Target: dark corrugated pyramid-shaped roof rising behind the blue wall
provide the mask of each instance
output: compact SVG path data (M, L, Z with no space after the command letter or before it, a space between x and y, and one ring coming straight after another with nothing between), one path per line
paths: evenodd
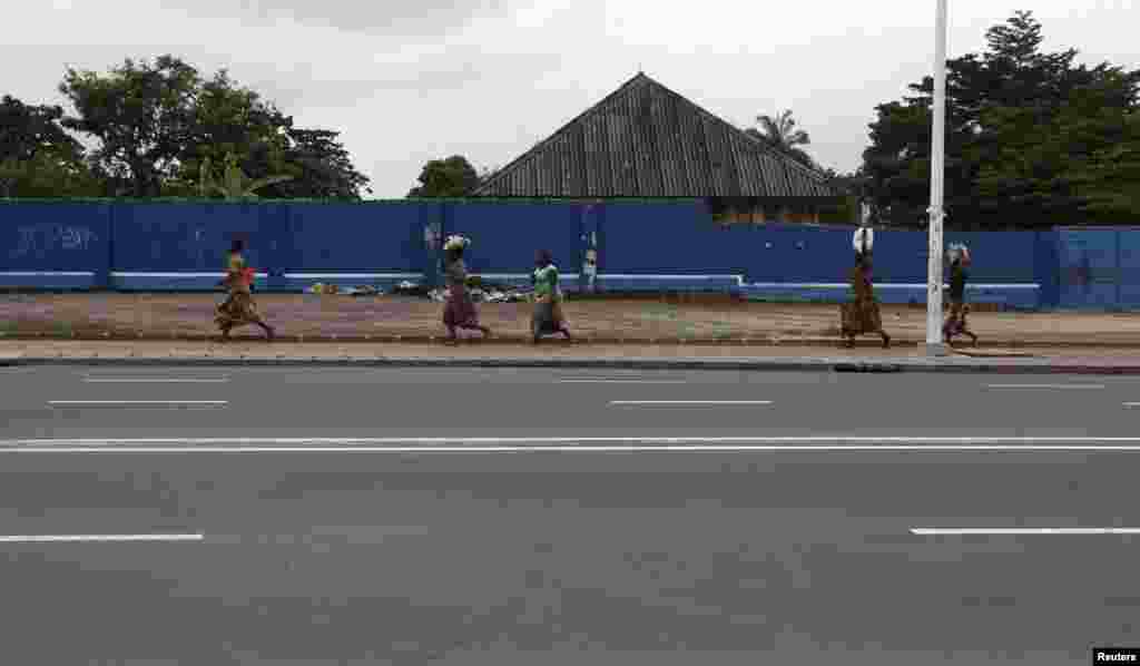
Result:
M637 74L475 196L834 197L815 171Z

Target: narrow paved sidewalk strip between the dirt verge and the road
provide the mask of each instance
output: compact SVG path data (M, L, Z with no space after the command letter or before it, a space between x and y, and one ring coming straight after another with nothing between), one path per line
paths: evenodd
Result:
M439 344L267 342L3 341L2 365L312 365L1140 374L1140 352L1106 349L970 351L926 357L919 349L628 344Z

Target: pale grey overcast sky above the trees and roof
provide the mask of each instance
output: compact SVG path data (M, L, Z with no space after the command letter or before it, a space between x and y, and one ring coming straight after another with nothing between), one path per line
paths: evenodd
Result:
M930 73L934 54L935 0L7 1L19 17L0 25L0 94L63 104L67 65L164 52L205 76L227 67L301 127L343 132L383 198L431 159L510 162L638 67L741 127L791 108L808 153L850 170L874 106ZM1135 0L950 5L950 57L1027 8L1047 49L1140 67Z

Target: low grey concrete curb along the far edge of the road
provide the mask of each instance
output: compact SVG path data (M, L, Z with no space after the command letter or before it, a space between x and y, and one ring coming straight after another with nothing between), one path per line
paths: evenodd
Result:
M453 367L453 368L603 368L701 369L756 372L847 373L991 373L1140 375L1140 363L1091 365L1017 359L1004 363L950 359L850 358L447 358L447 357L19 357L0 359L0 366L115 366L115 367Z

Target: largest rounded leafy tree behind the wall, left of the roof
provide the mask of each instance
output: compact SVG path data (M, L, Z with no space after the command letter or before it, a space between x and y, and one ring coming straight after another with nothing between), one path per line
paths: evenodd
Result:
M359 198L367 189L339 132L294 128L226 70L203 80L166 55L106 75L68 70L60 91L76 109L63 124L98 139L93 166L112 195L201 195L203 164L229 155L247 178L266 180L267 197Z

